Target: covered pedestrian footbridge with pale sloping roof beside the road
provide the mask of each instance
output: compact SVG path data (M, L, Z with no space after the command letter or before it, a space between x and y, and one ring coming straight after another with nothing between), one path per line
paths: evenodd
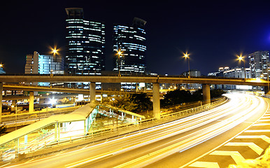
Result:
M55 142L85 136L92 131L97 114L117 120L117 123L120 120L121 123L136 124L145 119L144 116L113 106L90 103L72 113L50 116L1 136L1 158L10 160Z

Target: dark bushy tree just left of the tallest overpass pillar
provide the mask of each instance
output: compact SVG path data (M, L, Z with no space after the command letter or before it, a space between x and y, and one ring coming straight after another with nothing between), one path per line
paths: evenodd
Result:
M145 93L140 94L125 94L120 97L116 97L113 102L113 106L134 113L140 113L152 109L152 102L150 97L147 97Z

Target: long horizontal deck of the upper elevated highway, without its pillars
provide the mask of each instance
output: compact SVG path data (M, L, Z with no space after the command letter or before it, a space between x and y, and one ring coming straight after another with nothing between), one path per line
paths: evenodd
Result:
M267 86L267 80L256 78L187 78L185 76L64 76L64 75L1 75L2 83L34 82L100 82L100 83L200 83L215 85Z

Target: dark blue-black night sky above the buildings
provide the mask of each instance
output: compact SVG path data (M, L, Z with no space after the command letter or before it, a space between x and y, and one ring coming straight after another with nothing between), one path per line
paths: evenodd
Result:
M25 57L49 46L65 48L65 8L83 8L85 20L106 24L106 70L113 69L113 23L147 21L148 71L202 74L238 66L235 54L270 50L270 1L8 1L1 2L0 62L7 73L24 73ZM242 63L243 66L243 63ZM246 58L246 66L248 59Z

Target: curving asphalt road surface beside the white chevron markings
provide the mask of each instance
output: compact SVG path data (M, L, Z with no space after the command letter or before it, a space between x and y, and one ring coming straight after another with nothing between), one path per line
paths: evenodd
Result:
M183 167L255 123L267 102L250 94L226 94L215 109L122 137L88 144L8 167ZM16 164L16 163L15 163Z

